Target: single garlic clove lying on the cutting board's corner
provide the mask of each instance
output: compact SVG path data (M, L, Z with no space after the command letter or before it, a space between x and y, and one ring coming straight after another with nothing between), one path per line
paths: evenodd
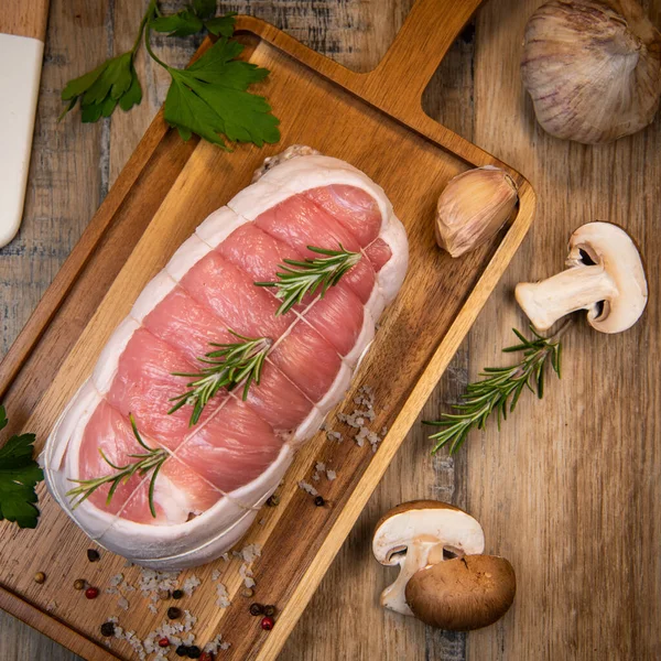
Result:
M436 207L436 242L454 258L488 241L511 216L519 195L509 174L486 165L447 184Z

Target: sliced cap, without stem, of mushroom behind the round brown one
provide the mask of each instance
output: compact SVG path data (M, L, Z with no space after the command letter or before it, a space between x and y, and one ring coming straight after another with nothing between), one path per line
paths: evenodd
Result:
M400 564L397 553L415 539L437 541L459 555L481 553L485 549L481 525L469 513L437 500L412 500L381 517L375 528L372 552L383 565ZM436 562L441 560L442 553Z

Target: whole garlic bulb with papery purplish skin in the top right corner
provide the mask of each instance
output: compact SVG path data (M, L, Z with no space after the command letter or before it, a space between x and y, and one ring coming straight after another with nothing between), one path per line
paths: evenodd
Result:
M661 95L661 34L635 0L551 0L521 62L542 128L586 144L647 127Z

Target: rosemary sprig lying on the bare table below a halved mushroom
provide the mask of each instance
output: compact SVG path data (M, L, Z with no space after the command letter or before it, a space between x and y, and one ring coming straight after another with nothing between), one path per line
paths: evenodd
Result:
M562 345L560 338L568 323L555 335L543 337L530 326L534 338L527 339L512 328L521 344L502 349L505 354L523 351L523 358L511 367L486 367L480 377L481 381L468 383L463 403L454 404L457 413L443 413L440 420L424 421L424 424L443 427L432 434L430 438L436 441L432 453L438 452L449 444L449 452L454 454L468 436L473 429L484 430L487 419L496 412L498 430L500 421L507 420L508 412L512 412L524 388L542 399L544 395L544 367L551 364L553 371L560 378L560 361Z

